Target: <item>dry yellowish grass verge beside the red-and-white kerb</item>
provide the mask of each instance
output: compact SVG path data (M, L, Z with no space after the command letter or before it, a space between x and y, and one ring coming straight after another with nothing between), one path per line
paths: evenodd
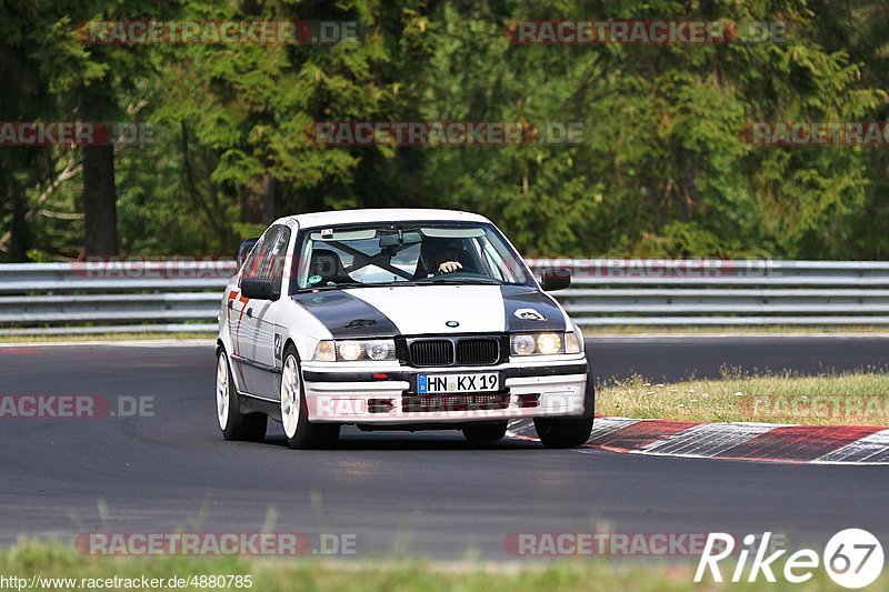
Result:
M889 373L742 374L660 383L635 377L596 393L606 415L686 421L889 425Z

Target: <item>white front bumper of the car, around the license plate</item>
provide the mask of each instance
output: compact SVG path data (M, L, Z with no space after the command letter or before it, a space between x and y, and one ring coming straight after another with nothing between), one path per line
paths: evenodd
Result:
M566 359L568 358L568 359ZM498 372L500 390L421 395L418 374ZM303 395L312 422L465 423L585 412L588 367L578 357L536 357L491 367L406 368L396 364L309 363Z

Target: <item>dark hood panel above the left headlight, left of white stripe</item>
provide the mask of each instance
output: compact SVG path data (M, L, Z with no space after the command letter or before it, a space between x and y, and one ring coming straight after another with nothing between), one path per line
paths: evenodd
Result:
M389 317L360 298L339 290L306 292L293 301L321 321L334 339L383 338L398 334Z

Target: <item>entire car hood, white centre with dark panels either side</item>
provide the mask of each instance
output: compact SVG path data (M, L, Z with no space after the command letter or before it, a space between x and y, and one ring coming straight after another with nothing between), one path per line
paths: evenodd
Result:
M339 339L563 331L561 308L523 285L399 285L306 292L292 297Z

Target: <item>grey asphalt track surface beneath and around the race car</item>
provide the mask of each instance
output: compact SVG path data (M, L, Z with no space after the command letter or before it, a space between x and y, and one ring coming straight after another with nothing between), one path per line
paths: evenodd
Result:
M880 338L588 340L597 374L885 367ZM515 560L510 533L889 536L889 470L545 450L458 432L343 431L334 451L222 441L211 347L0 349L2 394L153 397L139 419L0 420L0 542L91 531L356 533L359 556Z

